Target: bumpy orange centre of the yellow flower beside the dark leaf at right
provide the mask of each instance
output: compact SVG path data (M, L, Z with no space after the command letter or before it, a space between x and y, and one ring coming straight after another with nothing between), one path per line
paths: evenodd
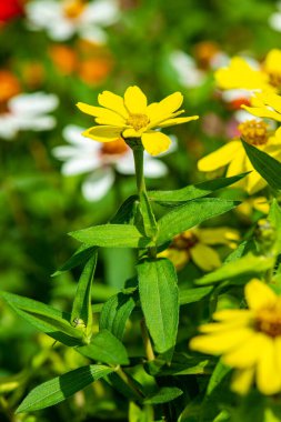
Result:
M268 124L259 120L248 120L238 127L245 142L252 145L262 145L268 142Z

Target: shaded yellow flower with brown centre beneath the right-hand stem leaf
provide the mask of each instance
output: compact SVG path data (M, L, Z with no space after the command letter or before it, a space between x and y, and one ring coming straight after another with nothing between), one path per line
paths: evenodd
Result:
M219 253L210 245L224 244L237 247L239 233L230 228L192 229L177 235L172 244L159 257L168 258L177 270L181 270L190 260L203 271L212 271L221 265Z

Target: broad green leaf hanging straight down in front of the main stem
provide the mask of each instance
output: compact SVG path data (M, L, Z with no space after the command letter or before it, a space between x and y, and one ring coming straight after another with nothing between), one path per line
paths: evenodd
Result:
M141 308L155 350L164 353L175 344L179 323L177 274L167 259L137 265Z

